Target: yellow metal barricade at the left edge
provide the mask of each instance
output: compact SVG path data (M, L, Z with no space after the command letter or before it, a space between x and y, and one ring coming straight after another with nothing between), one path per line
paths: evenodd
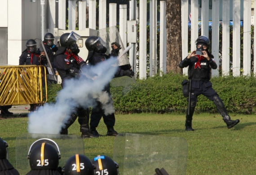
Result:
M44 66L0 66L0 106L47 102L45 77Z

